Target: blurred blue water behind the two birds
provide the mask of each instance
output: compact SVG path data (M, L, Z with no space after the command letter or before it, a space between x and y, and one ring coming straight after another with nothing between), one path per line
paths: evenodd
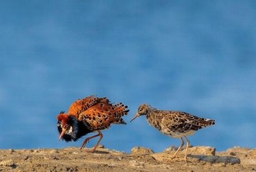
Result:
M255 1L0 1L0 148L61 148L56 116L77 98L129 105L102 144L163 151L179 139L129 120L138 105L217 120L190 137L256 145ZM89 147L95 144L89 143Z

